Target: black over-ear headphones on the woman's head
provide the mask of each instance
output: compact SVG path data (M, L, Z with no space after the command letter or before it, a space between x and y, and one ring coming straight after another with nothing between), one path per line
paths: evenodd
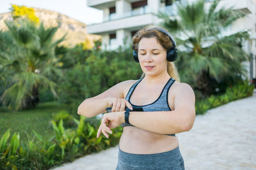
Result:
M169 36L170 40L172 41L173 46L172 46L172 48L167 50L167 52L166 52L166 59L168 61L170 61L170 62L175 61L177 59L177 57L178 57L178 50L176 48L176 42L175 42L173 36L169 32L165 31L164 29L160 29L160 28L150 28L148 30L161 31L161 32L164 32L164 34ZM132 48L132 50L133 50L133 58L134 58L135 62L139 62L138 53L135 52L134 48L135 47Z

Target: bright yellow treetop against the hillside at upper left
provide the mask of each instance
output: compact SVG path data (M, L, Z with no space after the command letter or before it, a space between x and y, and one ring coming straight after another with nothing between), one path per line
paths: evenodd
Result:
M28 18L35 24L39 24L40 19L35 15L34 8L28 8L27 6L18 6L16 4L12 4L12 17L16 18Z

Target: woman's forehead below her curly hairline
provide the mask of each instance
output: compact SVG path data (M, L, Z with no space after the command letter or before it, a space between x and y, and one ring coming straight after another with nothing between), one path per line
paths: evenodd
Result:
M147 49L163 49L163 46L157 41L155 37L152 38L141 38L138 44L138 50L147 50Z

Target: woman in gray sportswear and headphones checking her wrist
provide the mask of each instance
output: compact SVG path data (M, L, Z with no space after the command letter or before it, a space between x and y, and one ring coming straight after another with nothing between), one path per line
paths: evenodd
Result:
M172 62L177 57L175 40L165 29L145 28L134 35L132 46L142 78L123 81L84 100L77 113L94 117L112 107L102 117L97 138L101 132L108 138L111 129L124 127L116 169L184 169L175 133L193 127L195 94L179 82Z

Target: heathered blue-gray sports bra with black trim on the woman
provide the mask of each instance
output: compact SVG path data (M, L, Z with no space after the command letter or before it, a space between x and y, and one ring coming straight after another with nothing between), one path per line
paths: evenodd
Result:
M132 95L132 92L134 91L134 89L136 88L136 86L138 85L138 83L140 83L140 81L143 78L141 78L140 80L138 80L136 83L134 83L134 85L132 85L131 89L129 90L127 96L125 97L125 100L129 101L129 103L131 103L130 98ZM164 85L164 89L162 90L160 96L156 99L156 101L154 101L151 104L146 104L143 106L138 106L138 105L134 105L131 103L133 111L136 110L143 110L143 111L170 111L171 108L168 104L168 91L170 89L170 87L172 86L172 84L174 83L175 79L170 78L170 80L168 80L168 82L166 83L166 85ZM125 126L134 126L131 124L121 124L122 127ZM175 136L175 134L166 134L169 136Z

